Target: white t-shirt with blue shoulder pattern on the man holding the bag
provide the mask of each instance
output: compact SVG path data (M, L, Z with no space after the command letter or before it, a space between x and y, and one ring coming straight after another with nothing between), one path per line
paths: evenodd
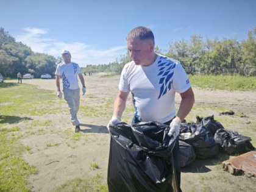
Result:
M119 90L132 92L134 116L140 121L165 123L176 115L175 93L190 88L180 62L157 54L150 66L127 63L121 73Z

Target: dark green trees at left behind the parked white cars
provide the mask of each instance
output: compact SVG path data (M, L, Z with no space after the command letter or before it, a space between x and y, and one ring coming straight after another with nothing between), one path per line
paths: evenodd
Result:
M32 73L35 77L43 73L54 74L57 61L51 55L33 52L0 28L0 73L4 77L16 77L18 72L22 75Z

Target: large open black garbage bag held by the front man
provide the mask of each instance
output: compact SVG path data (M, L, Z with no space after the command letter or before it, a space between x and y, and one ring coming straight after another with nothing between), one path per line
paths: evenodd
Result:
M160 123L126 123L110 126L107 183L110 192L174 191L176 174L169 126ZM177 188L177 185L176 185Z

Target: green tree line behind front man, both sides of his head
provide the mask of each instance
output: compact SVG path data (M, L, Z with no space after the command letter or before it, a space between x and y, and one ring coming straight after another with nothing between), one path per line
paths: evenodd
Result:
M211 40L192 35L190 41L182 39L169 43L165 52L156 46L155 52L179 60L188 74L256 76L256 27L249 30L247 39L242 41L236 38ZM87 65L83 70L121 73L127 62L130 62L129 52L108 65Z

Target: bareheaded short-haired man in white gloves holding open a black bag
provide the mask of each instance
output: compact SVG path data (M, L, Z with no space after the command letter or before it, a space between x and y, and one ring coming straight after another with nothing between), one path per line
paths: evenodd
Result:
M133 123L158 121L170 126L168 135L177 137L172 151L177 181L180 190L179 128L194 104L194 93L180 62L154 51L154 34L147 27L136 27L126 37L127 49L132 62L127 63L121 73L119 92L113 107L113 116L108 123L120 123L126 108L129 92L135 107ZM182 101L175 110L175 93Z

